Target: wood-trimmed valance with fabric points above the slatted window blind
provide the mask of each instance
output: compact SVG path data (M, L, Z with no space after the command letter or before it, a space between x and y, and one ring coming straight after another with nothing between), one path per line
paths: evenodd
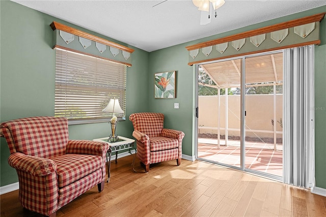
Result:
M53 21L50 26L53 30L53 49L62 48L131 66L130 55L134 51L132 48L55 21Z

